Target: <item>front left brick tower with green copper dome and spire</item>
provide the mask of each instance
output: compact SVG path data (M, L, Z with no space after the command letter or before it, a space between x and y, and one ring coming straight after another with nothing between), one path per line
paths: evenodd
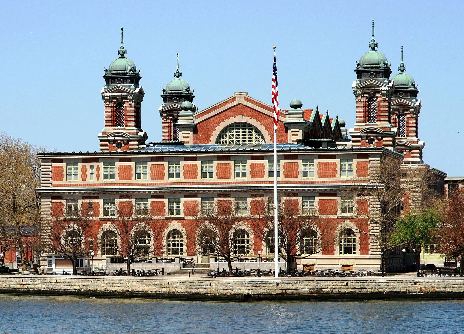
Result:
M145 147L148 135L141 126L141 104L144 92L139 82L140 70L126 58L123 29L119 57L104 68L105 85L101 90L105 103L105 124L98 134L101 151L127 151Z

